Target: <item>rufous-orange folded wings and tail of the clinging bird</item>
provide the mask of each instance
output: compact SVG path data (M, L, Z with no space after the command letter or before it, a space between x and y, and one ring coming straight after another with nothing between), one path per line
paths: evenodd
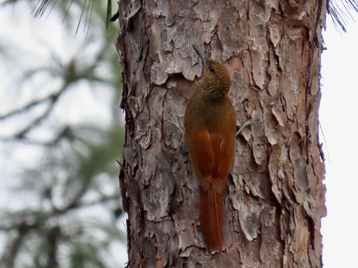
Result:
M235 129L188 133L190 160L199 180L200 226L209 252L222 250L222 192L235 154Z

